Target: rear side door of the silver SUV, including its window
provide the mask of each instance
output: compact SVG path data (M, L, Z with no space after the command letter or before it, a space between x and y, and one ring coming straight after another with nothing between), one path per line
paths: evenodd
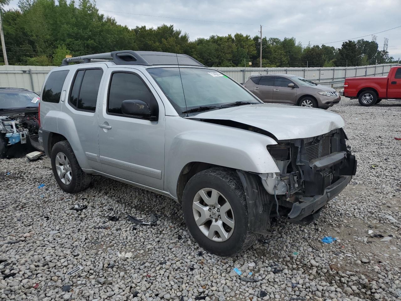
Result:
M106 70L105 64L91 64L91 67L86 68L77 66L67 91L67 101L62 108L62 111L74 120L79 142L90 169L97 171L101 170L98 159L97 102L99 87ZM77 147L75 143L74 146Z

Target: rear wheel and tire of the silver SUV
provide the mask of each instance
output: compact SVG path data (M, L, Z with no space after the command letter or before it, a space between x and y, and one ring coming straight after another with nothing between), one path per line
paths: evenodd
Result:
M51 167L57 184L68 193L85 190L91 183L92 175L83 172L67 140L53 146Z

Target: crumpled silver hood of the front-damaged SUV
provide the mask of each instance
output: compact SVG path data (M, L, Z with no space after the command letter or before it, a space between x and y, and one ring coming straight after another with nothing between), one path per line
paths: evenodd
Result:
M202 112L189 119L231 120L261 128L278 140L314 137L345 125L336 113L278 104L254 104Z

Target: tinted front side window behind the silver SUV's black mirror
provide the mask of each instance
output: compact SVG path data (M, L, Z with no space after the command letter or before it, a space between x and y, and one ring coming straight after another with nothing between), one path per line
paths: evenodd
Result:
M107 112L122 114L121 104L124 100L142 100L154 112L157 102L145 83L133 73L113 73L111 77Z

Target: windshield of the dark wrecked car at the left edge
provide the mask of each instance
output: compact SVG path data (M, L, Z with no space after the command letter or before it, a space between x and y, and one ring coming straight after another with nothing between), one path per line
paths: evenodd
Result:
M0 110L37 107L39 96L33 92L0 92Z

